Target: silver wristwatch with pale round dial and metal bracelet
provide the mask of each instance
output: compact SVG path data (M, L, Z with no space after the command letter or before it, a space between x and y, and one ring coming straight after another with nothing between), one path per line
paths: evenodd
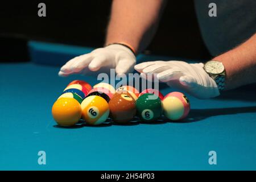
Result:
M220 61L210 60L204 64L204 70L216 82L218 90L224 90L226 77L224 65Z

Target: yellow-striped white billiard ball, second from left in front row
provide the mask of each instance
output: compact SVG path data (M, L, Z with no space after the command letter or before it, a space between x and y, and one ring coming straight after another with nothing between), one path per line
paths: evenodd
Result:
M89 125L100 125L109 117L109 104L100 96L89 96L81 103L82 118Z

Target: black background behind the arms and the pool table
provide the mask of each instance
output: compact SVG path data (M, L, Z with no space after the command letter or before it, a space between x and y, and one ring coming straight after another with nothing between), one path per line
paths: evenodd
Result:
M46 3L47 17L38 16L40 2ZM1 3L1 56L5 60L28 59L27 40L101 47L104 44L111 2L94 0ZM209 59L200 35L193 1L168 1L159 29L147 52L187 59Z

